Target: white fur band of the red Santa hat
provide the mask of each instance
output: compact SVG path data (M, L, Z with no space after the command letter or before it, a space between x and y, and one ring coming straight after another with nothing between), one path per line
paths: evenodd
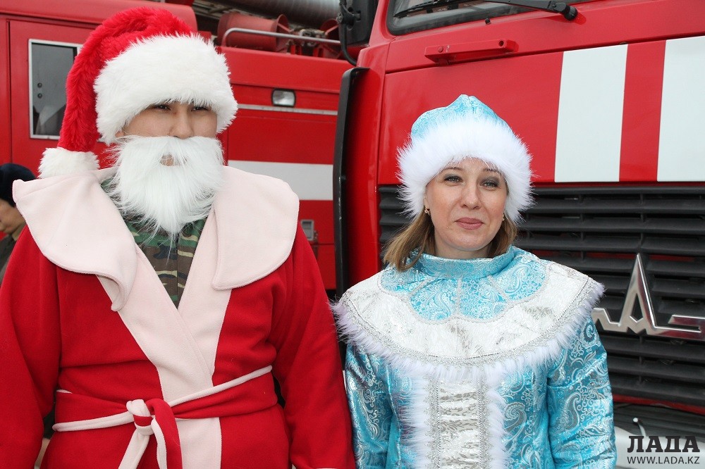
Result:
M94 91L98 132L106 144L153 104L181 101L210 106L218 115L218 132L238 111L225 57L198 35L135 42L106 63Z

